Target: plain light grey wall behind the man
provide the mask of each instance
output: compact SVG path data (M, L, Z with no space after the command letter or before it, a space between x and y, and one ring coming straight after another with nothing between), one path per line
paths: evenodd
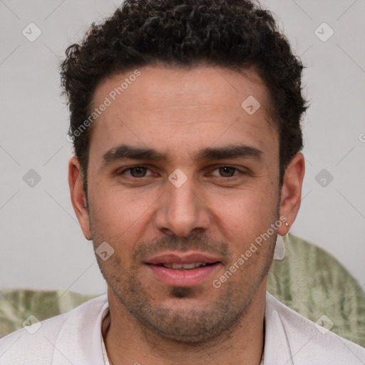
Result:
M57 68L66 47L118 4L0 0L0 290L106 289L69 198L71 143ZM331 252L364 286L365 2L263 4L307 66L312 104L304 120L302 208L292 233Z

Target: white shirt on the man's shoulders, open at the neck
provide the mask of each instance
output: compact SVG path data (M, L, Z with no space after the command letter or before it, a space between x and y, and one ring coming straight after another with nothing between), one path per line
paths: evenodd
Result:
M0 365L104 365L106 294L0 339ZM302 317L267 293L264 365L364 365L365 349ZM108 356L106 357L108 359Z

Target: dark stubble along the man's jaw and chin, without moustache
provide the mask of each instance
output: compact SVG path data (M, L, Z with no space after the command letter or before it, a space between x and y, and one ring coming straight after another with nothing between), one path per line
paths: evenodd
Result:
M202 294L204 305L195 300L195 304L184 309L164 307L158 299L153 299L138 280L138 271L133 265L126 272L120 260L113 259L113 256L108 264L99 257L97 259L108 287L143 331L193 345L207 343L219 336L229 336L242 323L272 262L274 242L267 242L267 245L269 247L262 247L264 259L259 270L252 272L257 264L254 260L245 262L234 274L237 277L230 277L222 287L214 289L219 294L209 306L206 296ZM199 290L197 287L170 287L168 297L175 301L187 301L196 298L200 294Z

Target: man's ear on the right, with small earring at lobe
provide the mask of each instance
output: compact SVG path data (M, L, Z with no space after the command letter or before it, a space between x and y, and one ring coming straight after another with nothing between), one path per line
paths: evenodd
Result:
M304 156L302 153L294 155L287 170L285 170L284 180L280 197L280 217L287 217L287 225L279 227L277 232L284 236L289 232L290 226L297 217L300 202L302 200L302 183L304 178Z

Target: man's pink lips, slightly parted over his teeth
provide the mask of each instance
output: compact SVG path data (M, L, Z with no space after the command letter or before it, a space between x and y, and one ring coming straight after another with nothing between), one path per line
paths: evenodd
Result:
M207 266L195 269L179 270L168 269L161 264L190 264L203 262ZM165 253L148 259L145 265L151 270L153 277L159 282L171 287L194 287L205 282L222 263L216 257L202 254L201 252Z

